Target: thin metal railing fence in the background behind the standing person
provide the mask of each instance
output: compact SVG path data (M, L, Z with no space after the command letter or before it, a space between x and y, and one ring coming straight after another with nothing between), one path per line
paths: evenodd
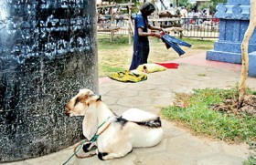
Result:
M161 22L159 25L171 27L174 22ZM195 17L179 19L175 23L182 27L182 36L184 37L197 37L197 38L218 38L219 37L219 19L208 17ZM120 27L118 31L114 32L114 36L128 36L128 21L115 22L115 26ZM180 32L170 32L172 36L180 36ZM98 32L98 34L112 35L111 32Z

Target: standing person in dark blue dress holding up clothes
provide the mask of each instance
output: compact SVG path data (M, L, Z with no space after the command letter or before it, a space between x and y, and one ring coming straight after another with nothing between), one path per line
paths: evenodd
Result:
M129 70L136 69L139 65L147 63L149 55L148 36L161 37L160 33L148 32L148 28L163 31L161 27L151 26L148 23L147 16L155 11L155 5L146 2L141 6L140 11L141 13L134 18L133 59Z

